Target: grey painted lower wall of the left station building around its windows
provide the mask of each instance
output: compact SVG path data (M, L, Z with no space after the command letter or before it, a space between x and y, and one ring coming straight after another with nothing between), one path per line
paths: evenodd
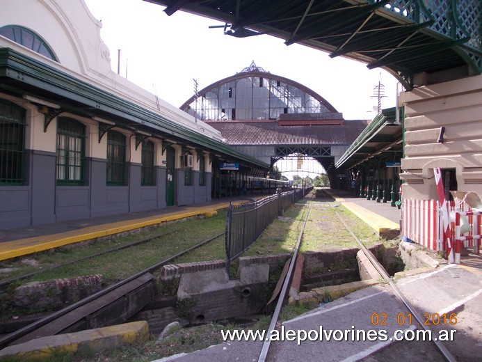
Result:
M56 154L26 152L26 184L0 187L0 228L54 223L88 217L166 208L166 167L156 168L153 186L140 185L140 164L127 167L127 186L106 185L106 160L86 158L86 184L56 186ZM176 205L211 201L211 173L199 186L193 171L193 186L184 186L184 171L176 170Z

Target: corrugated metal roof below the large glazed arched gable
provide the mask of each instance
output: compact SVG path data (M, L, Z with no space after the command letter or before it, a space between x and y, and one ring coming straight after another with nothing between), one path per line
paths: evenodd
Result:
M369 120L344 120L342 125L280 126L278 121L207 122L229 145L349 145Z

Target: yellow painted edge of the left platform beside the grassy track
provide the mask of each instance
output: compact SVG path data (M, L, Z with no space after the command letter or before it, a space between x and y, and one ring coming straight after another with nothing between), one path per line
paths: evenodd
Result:
M206 207L193 207L193 211L182 213L165 214L162 217L145 217L143 219L134 219L127 221L118 221L115 223L107 223L98 226L90 226L79 230L67 231L52 235L42 235L40 237L29 237L26 239L17 239L10 242L1 243L0 260L17 258L22 255L38 253L48 249L54 249L59 246L65 246L76 242L83 242L97 237L106 237L126 231L152 226L157 223L166 221L175 221L195 217L207 212L223 210L229 207L229 203L221 203L218 205L209 205Z

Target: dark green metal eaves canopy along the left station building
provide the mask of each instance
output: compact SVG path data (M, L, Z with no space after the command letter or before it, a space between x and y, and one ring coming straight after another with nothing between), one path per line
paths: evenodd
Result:
M60 108L45 113L45 129L58 114L68 111L81 116L97 116L115 121L116 127L134 127L164 140L205 150L227 161L241 161L252 168L268 170L269 165L175 123L160 113L122 99L86 81L58 70L10 48L0 48L0 91L22 97L30 95Z

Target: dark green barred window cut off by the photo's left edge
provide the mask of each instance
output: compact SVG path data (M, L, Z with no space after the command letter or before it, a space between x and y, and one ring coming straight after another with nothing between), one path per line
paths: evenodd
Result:
M0 100L0 184L24 184L25 110Z

